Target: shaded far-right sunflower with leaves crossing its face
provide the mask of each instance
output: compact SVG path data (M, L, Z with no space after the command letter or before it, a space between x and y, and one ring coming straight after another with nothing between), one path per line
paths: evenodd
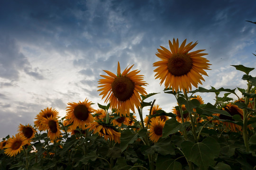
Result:
M229 103L225 107L223 107L222 110L226 110L227 112L229 112L229 114L231 116L240 115L241 118L243 119L243 110L238 108L237 105ZM214 114L214 115L219 116L219 119L235 121L234 119L232 119L232 117L229 117L229 116L226 116L226 115L222 115L222 114ZM220 124L219 120L213 120L213 122L217 122L218 124ZM232 122L221 122L221 123L223 125L225 125L227 128L229 128L230 131L232 131L232 132L238 132L238 131L241 132L242 131L242 127L240 125L235 124L235 123L232 123Z

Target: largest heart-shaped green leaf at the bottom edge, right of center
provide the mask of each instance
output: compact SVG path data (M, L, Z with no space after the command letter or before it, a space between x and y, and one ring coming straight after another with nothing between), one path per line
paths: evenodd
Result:
M207 137L199 143L184 141L181 147L188 161L195 163L201 170L208 170L220 152L219 143L213 137Z

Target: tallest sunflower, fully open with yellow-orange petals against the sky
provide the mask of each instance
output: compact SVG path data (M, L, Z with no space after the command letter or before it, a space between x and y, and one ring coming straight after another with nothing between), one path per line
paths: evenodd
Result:
M162 49L157 49L158 53L155 55L161 60L153 64L155 68L155 79L161 80L160 85L165 81L165 88L172 87L173 91L192 89L192 85L197 88L201 80L204 81L202 75L208 76L204 69L209 69L209 60L201 57L207 55L200 53L204 50L191 51L198 42L186 44L184 40L179 47L179 40L169 40L170 50L160 46ZM192 85L191 85L192 84Z

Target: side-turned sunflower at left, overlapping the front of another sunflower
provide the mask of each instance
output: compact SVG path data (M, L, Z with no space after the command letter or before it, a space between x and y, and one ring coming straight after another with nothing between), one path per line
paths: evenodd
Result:
M61 136L60 125L57 119L53 118L52 116L50 118L44 118L43 124L48 130L48 137L50 140L55 141Z

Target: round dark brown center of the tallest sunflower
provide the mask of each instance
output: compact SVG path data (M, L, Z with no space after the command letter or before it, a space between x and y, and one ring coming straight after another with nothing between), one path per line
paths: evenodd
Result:
M174 76L186 75L192 66L192 59L186 54L174 54L167 63L169 72Z

